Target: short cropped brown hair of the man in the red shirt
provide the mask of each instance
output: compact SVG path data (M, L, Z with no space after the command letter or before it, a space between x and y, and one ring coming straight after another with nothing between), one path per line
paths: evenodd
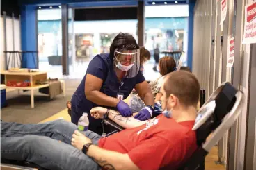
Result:
M165 78L166 96L174 94L184 106L197 106L200 94L198 79L188 71L175 71Z

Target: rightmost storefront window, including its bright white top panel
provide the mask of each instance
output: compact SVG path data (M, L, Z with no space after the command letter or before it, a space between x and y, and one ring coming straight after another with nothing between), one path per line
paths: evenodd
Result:
M184 51L186 66L188 17L188 5L145 6L145 48L154 55L158 46L160 58L163 51Z

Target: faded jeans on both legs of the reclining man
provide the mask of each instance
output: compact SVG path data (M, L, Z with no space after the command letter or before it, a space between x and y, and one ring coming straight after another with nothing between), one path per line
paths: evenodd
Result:
M90 157L71 145L77 126L64 121L45 124L17 124L1 121L1 158L33 162L46 169L101 169ZM101 138L83 132L93 144Z

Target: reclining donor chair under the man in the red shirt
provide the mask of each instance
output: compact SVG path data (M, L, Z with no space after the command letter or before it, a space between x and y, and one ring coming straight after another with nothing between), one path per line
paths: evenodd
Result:
M198 150L185 164L179 167L179 170L202 169L200 164L204 162L205 156L239 117L244 104L243 98L243 92L234 88L230 83L221 84L211 94L198 111L198 117L193 126L193 130L196 132ZM113 126L118 132L124 130L110 119L105 119L104 123ZM8 160L1 159L2 169L7 167L10 169L43 169L29 162L6 161Z

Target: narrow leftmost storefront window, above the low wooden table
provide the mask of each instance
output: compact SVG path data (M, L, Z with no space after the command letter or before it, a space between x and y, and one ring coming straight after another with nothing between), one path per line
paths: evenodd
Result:
M38 9L38 58L49 77L62 75L61 8Z

